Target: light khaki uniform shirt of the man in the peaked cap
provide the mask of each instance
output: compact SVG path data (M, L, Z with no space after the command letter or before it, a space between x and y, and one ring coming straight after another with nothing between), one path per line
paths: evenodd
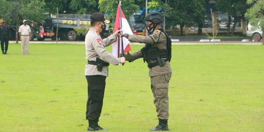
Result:
M117 41L117 38L114 34L102 40L100 34L94 29L90 28L85 37L86 60L96 61L96 57L98 57L104 62L108 62L113 65L118 65L120 63L120 59L106 51L105 48L106 46L111 45L115 41ZM85 75L108 76L108 66L104 66L102 71L98 71L97 66L87 64L85 67Z

